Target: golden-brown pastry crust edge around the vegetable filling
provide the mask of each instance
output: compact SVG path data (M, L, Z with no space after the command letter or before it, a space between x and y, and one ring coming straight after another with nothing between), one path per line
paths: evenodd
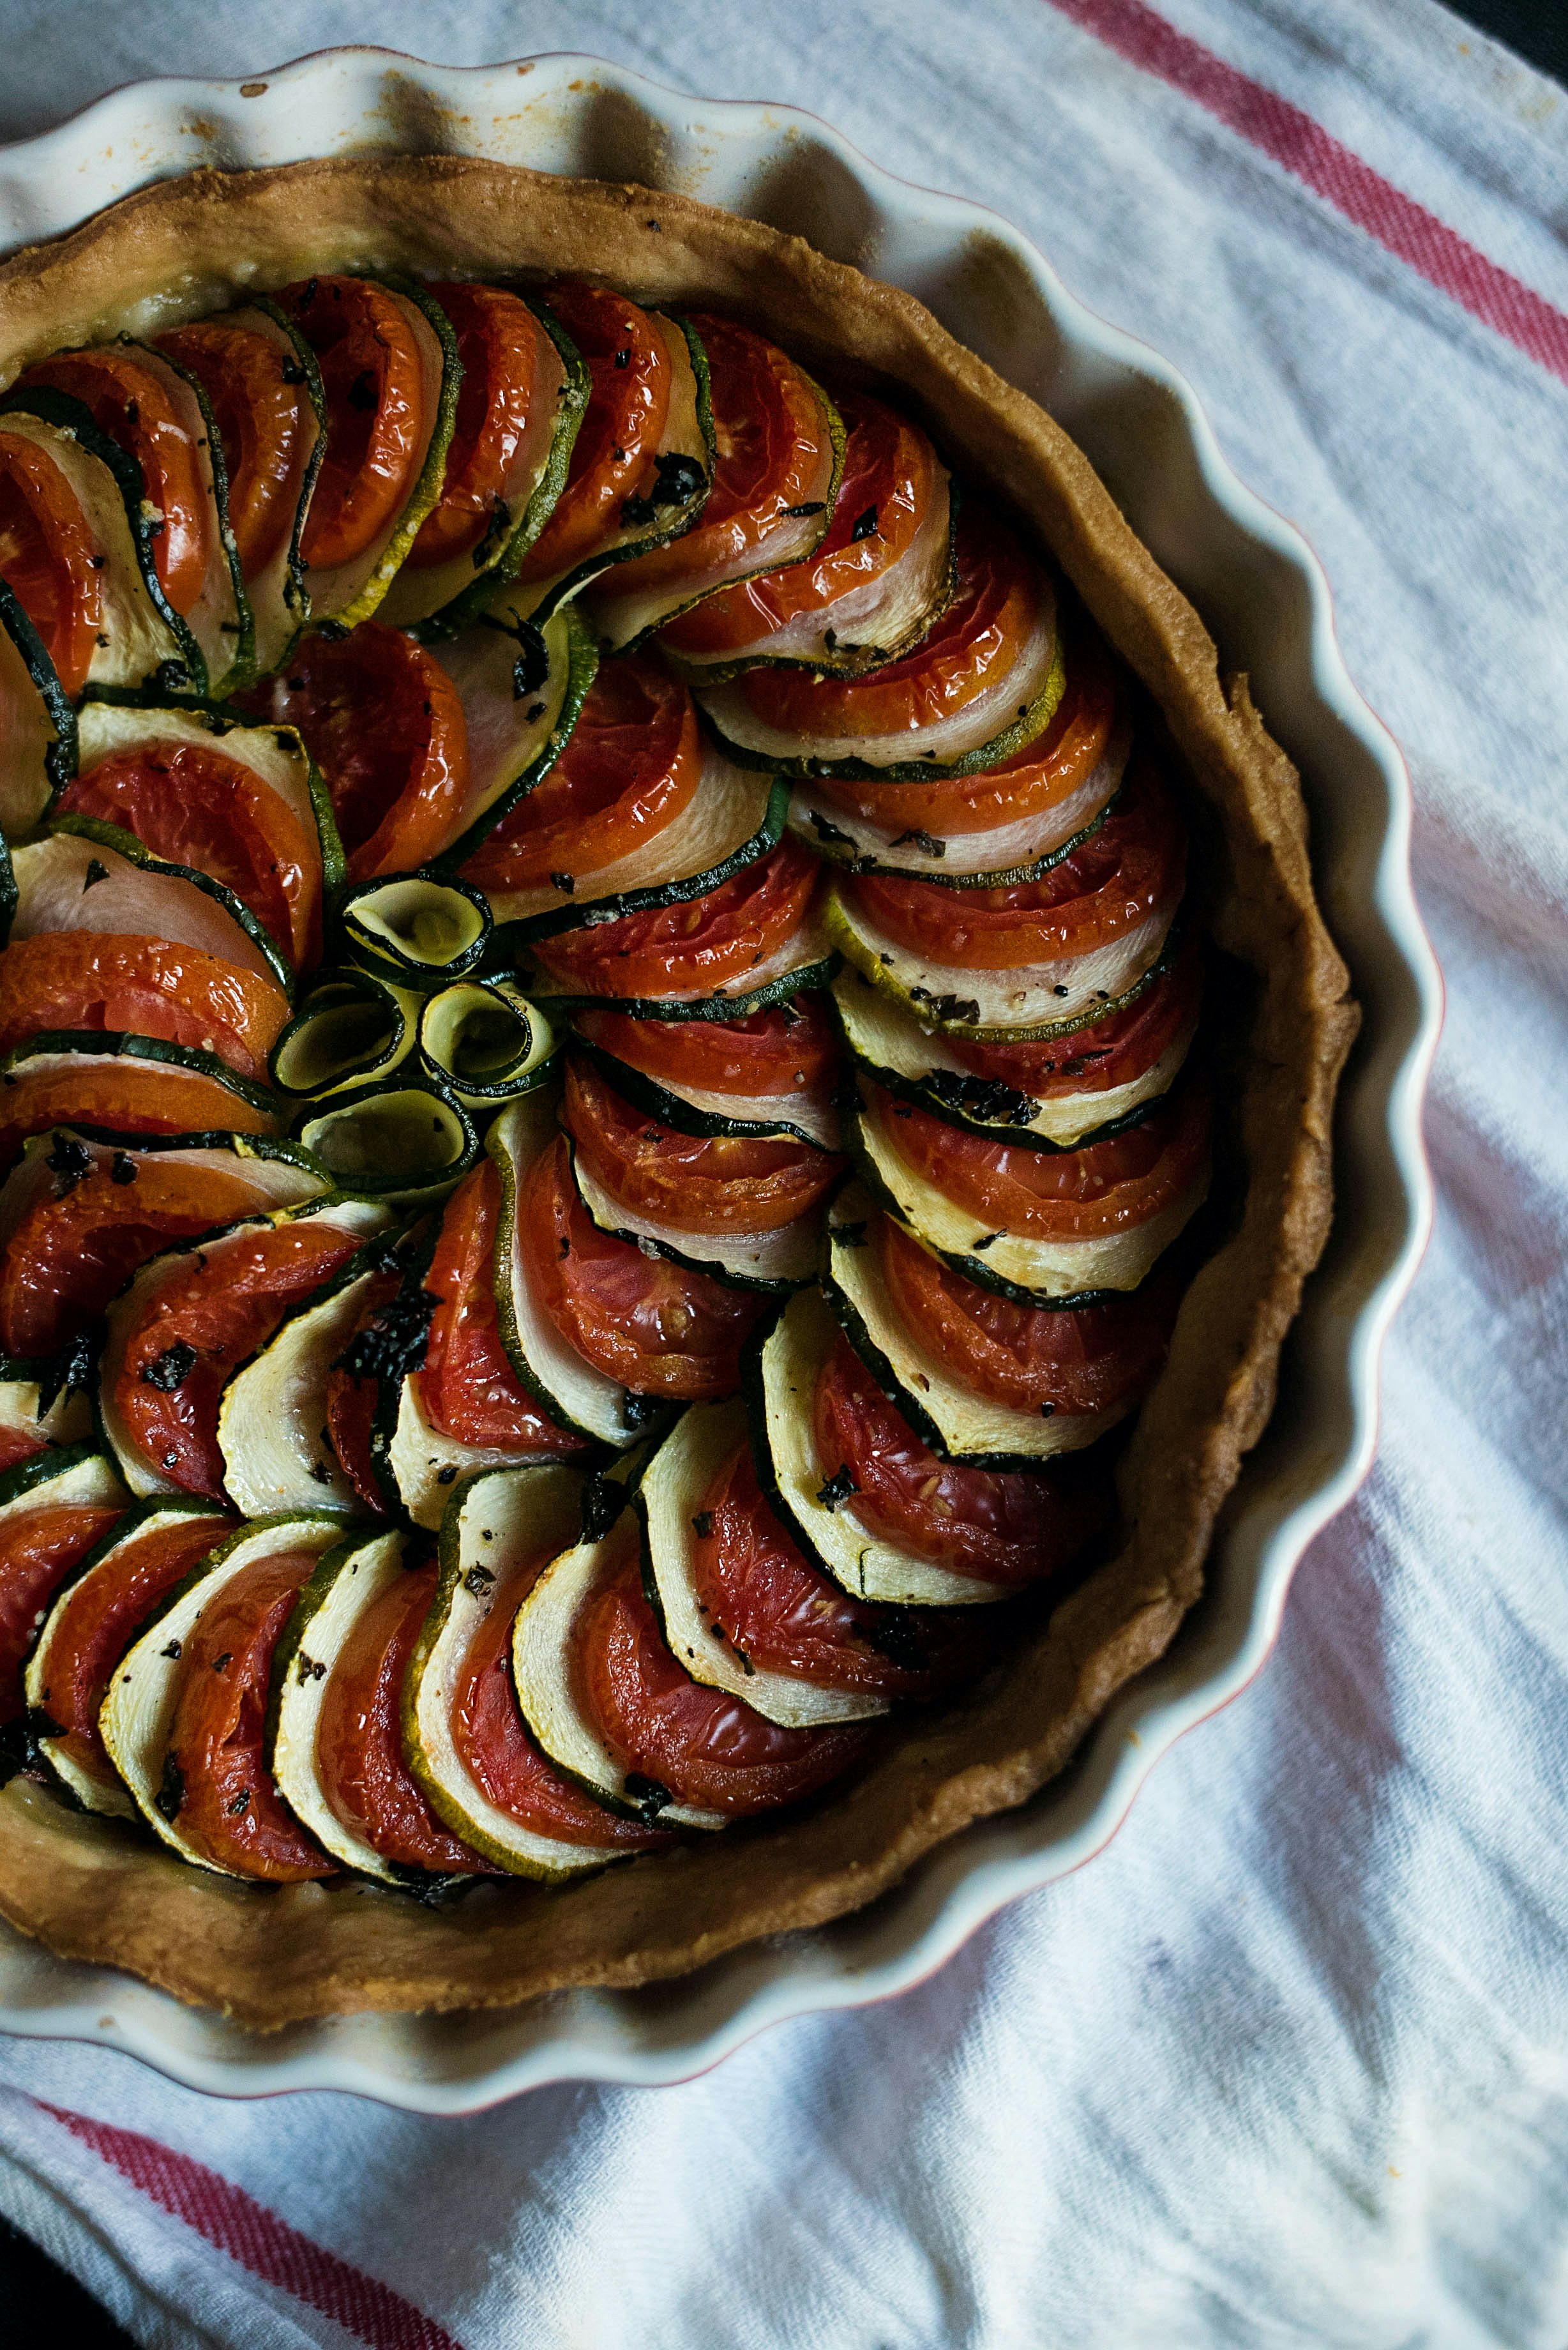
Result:
M1060 1770L1201 1589L1215 1513L1267 1422L1279 1347L1328 1234L1333 1095L1356 1032L1312 895L1300 785L1246 679L1220 682L1201 620L1034 402L912 296L799 237L646 188L456 157L200 172L0 266L0 381L61 343L193 315L235 284L350 266L595 275L644 301L738 310L802 357L830 352L907 385L947 446L1032 522L1159 703L1218 818L1215 938L1258 973L1260 1003L1241 1100L1246 1206L1192 1283L1128 1448L1124 1549L999 1690L907 1725L820 1810L564 1892L484 1885L428 1911L369 1887L233 1885L12 1781L0 1911L61 1958L127 1967L254 2026L675 1976L860 1906Z

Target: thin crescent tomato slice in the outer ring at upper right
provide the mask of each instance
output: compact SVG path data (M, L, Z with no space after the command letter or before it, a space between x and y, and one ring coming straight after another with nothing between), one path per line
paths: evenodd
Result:
M1117 677L1095 630L1079 630L1067 644L1067 686L1051 724L1011 759L978 776L940 783L844 783L813 785L849 815L863 815L889 832L919 830L938 839L992 832L1070 799L1105 757L1117 719Z

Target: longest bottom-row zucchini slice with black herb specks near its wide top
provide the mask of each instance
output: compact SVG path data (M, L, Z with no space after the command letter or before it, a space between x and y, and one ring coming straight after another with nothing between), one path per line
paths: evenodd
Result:
M442 1579L404 1685L404 1753L433 1810L515 1878L569 1878L630 1859L609 1838L578 1845L527 1828L491 1802L451 1734L477 1633L496 1610L517 1614L541 1563L576 1542L581 1523L583 1478L574 1469L487 1469L456 1485L442 1518Z

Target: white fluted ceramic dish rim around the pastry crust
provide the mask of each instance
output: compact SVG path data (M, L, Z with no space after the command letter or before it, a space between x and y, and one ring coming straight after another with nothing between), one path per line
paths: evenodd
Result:
M1265 717L1302 766L1328 916L1366 1013L1335 1135L1345 1206L1291 1340L1281 1410L1215 1542L1213 1598L1034 1802L976 1824L882 1901L816 1934L778 1936L675 1983L562 1993L477 2016L346 2016L263 2035L115 1969L54 1960L0 1927L5 2033L115 2047L214 2094L346 2089L465 2113L552 2080L682 2080L771 2023L910 1988L1004 1904L1091 1859L1159 1755L1246 1687L1276 1638L1295 1563L1373 1459L1382 1340L1432 1222L1420 1102L1441 980L1410 891L1408 776L1345 670L1316 555L1237 479L1168 362L1095 317L994 212L896 179L816 118L686 99L590 56L444 68L329 49L244 85L139 82L2 148L0 251L59 235L197 162L247 167L367 146L642 179L802 228L827 249L823 223L853 195L856 244L839 240L839 258L910 284L976 348L987 336L966 334L952 310L964 308L966 263L1001 261L1009 322L1023 320L1034 345L1023 369L985 355L1079 437L1227 658L1248 667ZM936 280L947 298L933 298ZM1215 616L1232 578L1241 602Z

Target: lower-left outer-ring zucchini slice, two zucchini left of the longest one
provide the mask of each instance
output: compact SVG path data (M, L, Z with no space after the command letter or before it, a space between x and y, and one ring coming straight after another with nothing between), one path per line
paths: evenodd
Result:
M235 1875L235 1871L219 1868L216 1861L209 1861L205 1852L197 1852L181 1835L174 1802L165 1810L165 1753L183 1680L181 1652L202 1610L247 1567L259 1565L263 1558L280 1558L287 1551L310 1551L320 1558L322 1551L329 1551L341 1539L343 1520L324 1511L301 1511L287 1518L263 1518L256 1525L242 1525L237 1535L219 1542L202 1565L183 1584L176 1584L162 1607L148 1617L108 1685L99 1730L136 1812L165 1845L179 1852L181 1861L209 1868L219 1878Z

